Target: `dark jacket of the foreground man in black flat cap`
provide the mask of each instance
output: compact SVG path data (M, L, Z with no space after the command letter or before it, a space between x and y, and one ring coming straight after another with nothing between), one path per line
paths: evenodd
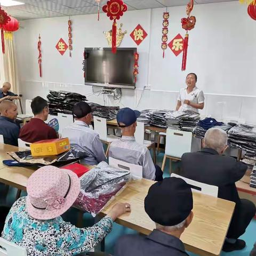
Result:
M154 229L149 236L126 235L118 239L115 256L188 256L179 238Z

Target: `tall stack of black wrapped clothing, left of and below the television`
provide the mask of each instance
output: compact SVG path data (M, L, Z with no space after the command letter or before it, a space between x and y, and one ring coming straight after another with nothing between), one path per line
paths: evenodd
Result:
M58 113L72 114L73 106L77 102L86 101L84 95L67 91L50 91L47 99L51 115L57 115Z

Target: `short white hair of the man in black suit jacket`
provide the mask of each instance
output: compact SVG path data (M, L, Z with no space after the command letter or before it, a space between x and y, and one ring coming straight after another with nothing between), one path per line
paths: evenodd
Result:
M212 148L219 154L225 149L228 143L227 133L220 128L211 128L204 135L204 147Z

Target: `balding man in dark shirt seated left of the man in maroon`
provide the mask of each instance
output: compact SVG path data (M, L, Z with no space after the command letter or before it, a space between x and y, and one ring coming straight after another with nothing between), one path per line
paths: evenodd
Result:
M4 137L4 143L18 146L20 126L15 123L17 106L10 100L4 100L0 103L0 113L0 134Z

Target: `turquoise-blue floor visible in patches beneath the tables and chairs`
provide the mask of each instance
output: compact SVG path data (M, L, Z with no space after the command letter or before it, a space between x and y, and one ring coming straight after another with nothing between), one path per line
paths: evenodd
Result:
M160 153L157 155L157 163L159 166L162 165L163 160L163 153ZM175 170L179 167L179 163L173 163L172 169ZM164 177L170 177L169 174L169 162L166 162L165 170L164 170ZM0 203L4 202L3 198L3 191L4 186L0 183ZM12 205L15 201L15 193L16 189L10 188L9 194L7 195L7 204ZM22 193L22 195L25 195ZM63 218L66 221L70 221L71 223L76 223L77 220L77 210L76 209L70 209L66 214L64 214ZM94 219L90 214L84 214L84 226L92 226L94 223ZM256 236L255 236L255 230L256 230L256 221L251 221L249 227L246 230L246 233L241 237L246 241L246 248L242 251L235 251L231 253L222 253L221 256L249 256L250 251L252 250L253 243L256 242ZM117 225L114 223L113 230L111 233L106 237L106 252L113 254L114 253L114 247L115 243L118 239L118 237L124 235L124 234L136 234L136 231L131 230L129 228L125 228L123 226ZM196 256L196 254L189 253L190 256Z

